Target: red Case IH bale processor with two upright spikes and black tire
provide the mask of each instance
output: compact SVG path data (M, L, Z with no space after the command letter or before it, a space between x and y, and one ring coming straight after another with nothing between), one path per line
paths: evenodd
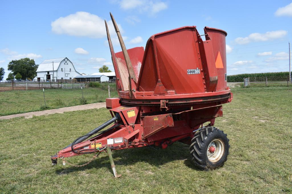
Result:
M229 154L229 140L213 125L216 117L223 116L222 104L232 100L226 75L227 33L205 27L200 35L195 26L186 26L151 36L145 50L127 50L110 15L122 48L114 53L105 21L119 94L119 98L106 99L112 119L51 156L52 165L57 158L65 165L67 157L95 153L95 158L106 151L114 177L119 177L111 150L165 149L179 141L190 145L197 167L222 166Z

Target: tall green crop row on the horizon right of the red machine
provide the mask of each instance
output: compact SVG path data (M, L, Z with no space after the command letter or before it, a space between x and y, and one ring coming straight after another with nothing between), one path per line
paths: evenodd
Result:
M288 76L289 72L271 72L271 73L244 73L238 75L227 75L227 82L243 82L247 77L274 77L274 76Z

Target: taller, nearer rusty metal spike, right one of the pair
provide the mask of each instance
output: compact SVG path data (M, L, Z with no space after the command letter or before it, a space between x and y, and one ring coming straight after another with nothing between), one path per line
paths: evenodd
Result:
M126 65L127 65L129 76L137 83L136 75L134 73L133 66L132 66L129 54L127 52L124 40L123 40L122 35L121 35L120 31L119 31L119 27L118 27L116 21L114 20L114 16L112 15L112 13L109 13L109 14L110 14L110 17L112 18L112 23L114 24L114 29L116 30L116 33L117 33L119 41L120 41L120 45L121 45L121 48L122 48L122 51L123 51L123 54L124 54L124 57L125 57L125 61L126 61Z

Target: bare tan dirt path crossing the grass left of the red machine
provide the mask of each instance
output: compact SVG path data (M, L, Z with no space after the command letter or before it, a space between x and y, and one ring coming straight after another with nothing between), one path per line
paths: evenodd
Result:
M69 106L51 110L42 110L42 111L35 111L35 112L27 112L21 114L12 114L8 116L2 116L0 119L12 119L15 117L24 117L26 119L32 118L33 116L41 116L41 115L48 115L48 114L55 114L55 113L64 113L70 112L75 110L87 110L87 109L94 109L94 108L103 108L105 106L105 102L103 103L93 103L93 104L86 104L86 105L78 105L78 106Z

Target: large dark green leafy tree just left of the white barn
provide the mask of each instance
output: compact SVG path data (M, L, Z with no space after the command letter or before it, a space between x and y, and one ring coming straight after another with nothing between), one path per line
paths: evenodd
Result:
M36 65L34 59L24 58L12 60L8 64L8 70L11 70L13 75L20 74L22 79L33 79L36 76Z

